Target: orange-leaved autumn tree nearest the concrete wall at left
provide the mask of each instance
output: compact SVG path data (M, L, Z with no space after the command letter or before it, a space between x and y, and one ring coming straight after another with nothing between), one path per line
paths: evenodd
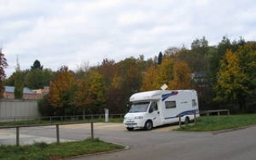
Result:
M62 114L67 114L66 111L73 110L71 107L74 106L75 84L74 73L67 66L62 66L50 83L50 105L61 109L64 112Z

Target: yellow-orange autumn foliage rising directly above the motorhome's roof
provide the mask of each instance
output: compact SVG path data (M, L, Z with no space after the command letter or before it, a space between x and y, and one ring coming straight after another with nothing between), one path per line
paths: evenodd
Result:
M188 64L165 57L157 68L152 65L146 70L141 91L159 90L163 84L168 85L168 90L191 89L191 70Z

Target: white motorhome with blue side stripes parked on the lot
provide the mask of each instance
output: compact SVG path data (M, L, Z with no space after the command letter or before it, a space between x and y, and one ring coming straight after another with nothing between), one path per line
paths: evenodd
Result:
M195 90L153 90L133 94L132 106L125 115L123 125L127 130L144 128L179 121L190 122L198 113L198 95ZM197 114L198 116L198 114Z

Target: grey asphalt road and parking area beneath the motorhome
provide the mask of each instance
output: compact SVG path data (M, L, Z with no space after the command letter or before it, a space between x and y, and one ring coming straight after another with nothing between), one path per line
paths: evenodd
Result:
M175 126L161 127L151 131L127 131L118 124L98 124L98 126L95 124L95 138L130 146L130 149L67 159L256 159L256 126L222 133L170 131L173 127ZM21 133L55 138L54 127L50 126L26 128L21 130ZM63 140L81 140L90 137L90 127L85 125L62 126L60 134Z

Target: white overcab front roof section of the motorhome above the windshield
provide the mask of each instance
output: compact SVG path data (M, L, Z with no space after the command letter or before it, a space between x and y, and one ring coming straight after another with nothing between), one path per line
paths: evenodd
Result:
M130 102L143 100L159 100L163 93L170 92L170 90L153 90L146 92L139 92L130 96Z

